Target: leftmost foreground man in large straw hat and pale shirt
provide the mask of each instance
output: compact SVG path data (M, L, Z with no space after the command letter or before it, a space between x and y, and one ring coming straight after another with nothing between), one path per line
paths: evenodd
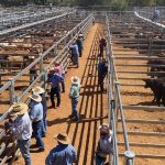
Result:
M6 122L6 130L18 139L18 146L25 165L31 165L30 141L32 124L28 113L28 105L20 102L11 107L10 122ZM13 120L11 118L14 118Z

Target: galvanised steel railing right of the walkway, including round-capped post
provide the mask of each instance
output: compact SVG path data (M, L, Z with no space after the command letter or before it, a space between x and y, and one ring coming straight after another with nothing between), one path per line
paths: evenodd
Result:
M107 55L108 55L108 99L109 99L109 111L110 111L110 123L112 125L112 130L114 131L114 142L113 142L113 151L114 151L114 162L111 162L111 165L118 165L119 164L119 154L118 154L118 140L117 140L117 127L118 127L118 116L120 112L121 116L121 122L122 122L122 129L123 129L123 138L124 138L124 145L125 145L125 152L124 152L124 164L125 165L133 165L134 156L135 154L130 151L130 144L128 139L128 132L125 127L125 119L123 114L123 107L121 102L121 96L120 96L120 84L118 81L117 70L116 70L116 64L114 64L114 57L112 52L112 43L111 43L111 35L110 35L110 25L109 25L109 16L108 13L106 15L106 24L107 24Z

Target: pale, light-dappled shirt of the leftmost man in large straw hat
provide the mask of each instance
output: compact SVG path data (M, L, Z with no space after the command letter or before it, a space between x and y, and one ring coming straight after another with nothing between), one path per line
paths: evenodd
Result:
M15 135L18 140L29 140L32 136L32 123L29 117L29 113L24 113L23 116L19 116L12 127L12 133Z

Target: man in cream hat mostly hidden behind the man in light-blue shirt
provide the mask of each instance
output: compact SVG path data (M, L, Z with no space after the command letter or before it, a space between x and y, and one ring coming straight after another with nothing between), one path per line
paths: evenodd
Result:
M43 106L43 128L42 128L42 134L43 136L46 136L46 129L47 129L47 103L46 103L46 97L45 97L45 89L42 87L35 87L32 89L33 94L37 94L42 97L42 106Z

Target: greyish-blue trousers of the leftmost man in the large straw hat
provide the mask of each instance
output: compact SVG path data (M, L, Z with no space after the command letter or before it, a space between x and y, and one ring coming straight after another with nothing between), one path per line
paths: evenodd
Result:
M30 141L31 140L18 140L18 146L24 158L25 165L31 165Z

